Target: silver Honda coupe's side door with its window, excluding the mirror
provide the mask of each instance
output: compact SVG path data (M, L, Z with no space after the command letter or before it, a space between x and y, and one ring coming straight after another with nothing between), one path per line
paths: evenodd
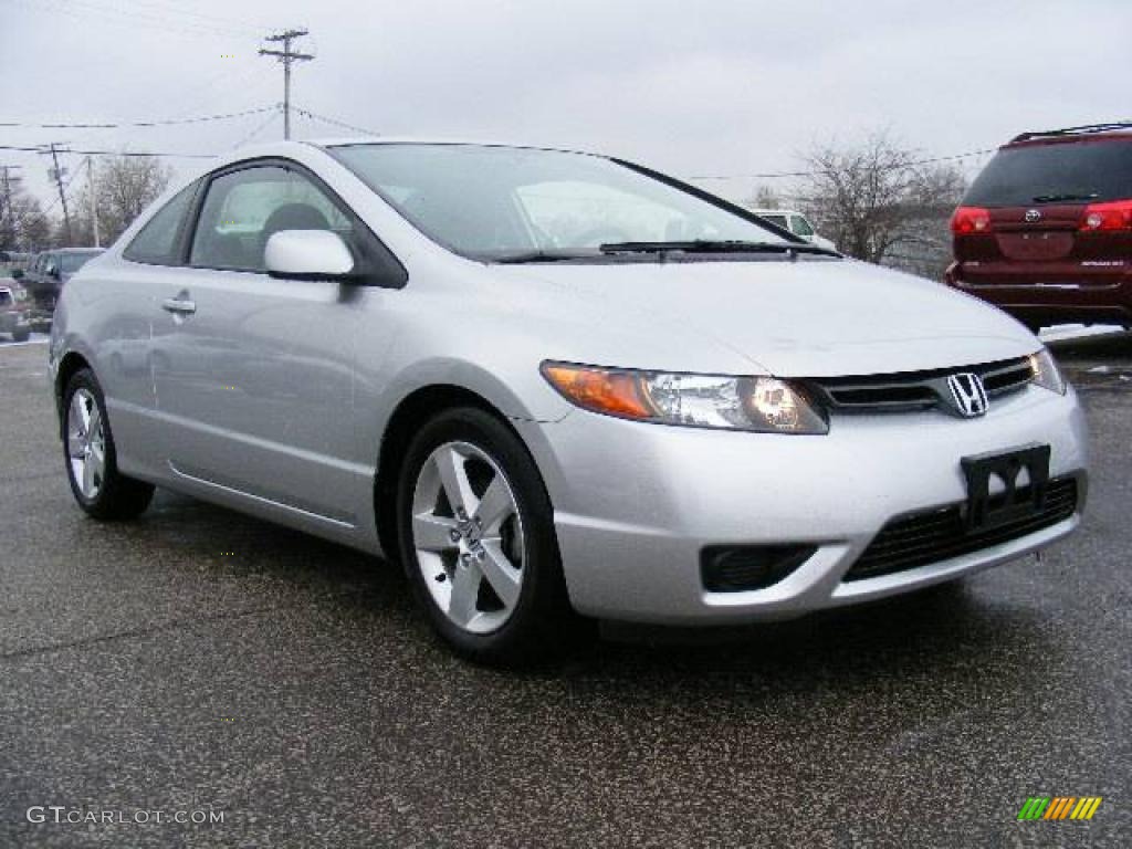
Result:
M198 204L188 264L166 285L154 327L170 466L214 495L352 526L359 475L372 475L349 460L363 295L332 281L273 278L264 247L281 230L349 237L355 218L278 162L214 174Z

